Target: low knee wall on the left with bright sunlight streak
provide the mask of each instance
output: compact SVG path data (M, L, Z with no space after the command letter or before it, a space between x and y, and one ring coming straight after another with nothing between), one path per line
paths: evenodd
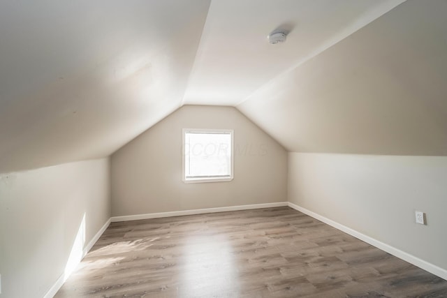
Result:
M109 170L106 158L0 175L0 297L43 297L76 265L110 218Z

